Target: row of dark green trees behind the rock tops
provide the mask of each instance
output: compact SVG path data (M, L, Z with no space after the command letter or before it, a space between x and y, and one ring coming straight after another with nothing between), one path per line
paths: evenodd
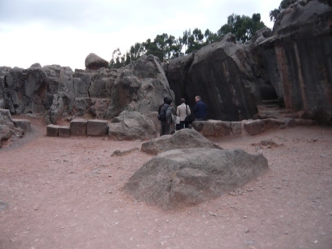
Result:
M285 1L285 0L284 0ZM256 31L264 28L260 14L254 14L252 17L232 14L228 17L228 23L223 25L217 33L212 33L209 29L203 33L199 28L194 30L185 30L183 37L174 37L173 35L157 35L154 40L147 39L146 42L136 42L123 54L120 49L113 51L110 68L121 68L126 66L143 55L154 55L160 61L172 59L182 55L187 55L203 46L218 42L227 33L233 33L241 42L246 42Z

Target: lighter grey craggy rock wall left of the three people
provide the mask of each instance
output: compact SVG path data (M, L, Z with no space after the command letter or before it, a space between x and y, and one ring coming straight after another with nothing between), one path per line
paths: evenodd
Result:
M65 117L111 120L122 111L156 111L166 96L174 99L174 92L153 55L118 70L0 67L0 105L13 114L44 116L48 124Z

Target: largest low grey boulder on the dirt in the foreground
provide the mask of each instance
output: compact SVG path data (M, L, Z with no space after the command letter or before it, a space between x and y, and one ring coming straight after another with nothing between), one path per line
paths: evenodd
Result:
M149 160L124 185L135 199L165 209L214 199L268 169L268 160L241 149L175 149Z

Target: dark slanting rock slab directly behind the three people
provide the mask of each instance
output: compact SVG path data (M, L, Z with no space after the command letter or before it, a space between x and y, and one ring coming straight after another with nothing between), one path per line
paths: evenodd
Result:
M268 36L270 30L261 30ZM257 35L258 39L259 36ZM252 56L255 41L241 44L228 34L221 42L196 53L172 59L164 66L176 101L185 98L194 107L195 95L208 104L208 118L237 121L251 118L261 103L261 89L272 89L261 77L257 58Z

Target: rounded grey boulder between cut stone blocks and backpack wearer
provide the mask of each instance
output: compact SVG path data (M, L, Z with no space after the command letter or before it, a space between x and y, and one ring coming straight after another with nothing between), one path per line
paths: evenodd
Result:
M147 140L156 136L154 122L138 111L123 111L109 124L109 137L116 140Z

